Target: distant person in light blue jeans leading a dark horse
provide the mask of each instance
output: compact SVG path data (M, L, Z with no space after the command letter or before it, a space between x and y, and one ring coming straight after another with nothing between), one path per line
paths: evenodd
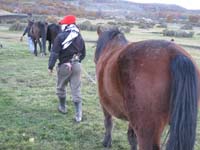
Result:
M23 41L23 37L27 34L27 40L28 40L28 46L29 46L29 51L31 53L34 53L34 43L33 43L33 39L31 37L31 27L34 23L34 20L33 20L33 17L32 17L32 14L28 14L28 25L26 26L26 28L24 29L24 32L20 38L20 41Z

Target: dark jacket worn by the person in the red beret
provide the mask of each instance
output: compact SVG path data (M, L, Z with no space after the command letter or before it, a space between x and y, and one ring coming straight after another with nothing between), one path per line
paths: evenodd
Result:
M49 69L53 69L57 59L59 59L58 65L61 65L66 62L70 62L74 54L80 55L80 62L85 58L85 42L80 33L78 37L73 40L71 45L69 45L69 47L67 47L66 49L62 49L63 46L61 43L66 39L68 35L69 32L63 31L56 36L53 43L51 55L49 57Z

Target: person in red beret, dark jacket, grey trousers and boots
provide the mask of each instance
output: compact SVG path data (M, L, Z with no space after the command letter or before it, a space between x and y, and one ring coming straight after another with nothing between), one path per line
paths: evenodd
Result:
M56 60L57 66L57 90L59 99L58 111L67 113L66 85L70 85L72 100L75 105L75 121L82 120L81 99L81 61L85 58L85 42L76 26L76 17L67 15L59 21L62 32L59 33L52 47L49 57L48 70L53 72Z

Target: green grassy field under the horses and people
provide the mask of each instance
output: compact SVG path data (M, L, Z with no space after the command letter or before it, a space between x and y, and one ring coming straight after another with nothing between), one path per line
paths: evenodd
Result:
M82 32L87 40L96 40L94 32ZM48 75L48 56L34 57L27 42L19 42L21 32L9 32L0 27L0 150L103 150L103 114L99 104L93 63L94 44L86 43L83 61L82 96L83 122L73 120L74 105L67 95L68 113L57 112L55 72ZM145 30L134 29L129 40L160 39ZM170 39L169 37L166 38ZM180 44L200 46L200 37L175 39ZM198 45L199 44L199 45ZM200 66L200 51L187 48ZM200 117L195 150L200 150ZM112 150L129 149L127 122L114 119ZM165 136L165 135L163 135ZM164 138L163 138L164 139Z

